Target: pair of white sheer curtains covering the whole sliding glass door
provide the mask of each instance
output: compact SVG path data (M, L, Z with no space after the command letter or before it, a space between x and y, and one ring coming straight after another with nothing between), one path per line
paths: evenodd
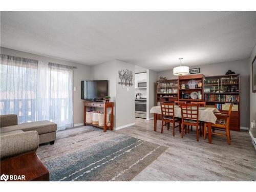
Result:
M73 67L1 54L0 113L73 126Z

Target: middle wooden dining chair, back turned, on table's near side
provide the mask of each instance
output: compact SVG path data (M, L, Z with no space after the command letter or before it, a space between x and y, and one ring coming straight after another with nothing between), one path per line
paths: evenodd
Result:
M199 131L200 136L202 136L202 128L198 129L199 126L199 105L198 104L184 104L180 105L181 107L181 138L183 138L184 127L185 126L196 126L197 127L197 141L199 141ZM186 130L185 130L186 131ZM188 129L189 132L189 129Z

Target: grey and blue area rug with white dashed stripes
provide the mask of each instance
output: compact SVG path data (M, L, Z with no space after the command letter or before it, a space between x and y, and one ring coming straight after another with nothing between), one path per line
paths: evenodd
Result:
M130 181L167 147L93 126L57 132L37 155L50 181Z

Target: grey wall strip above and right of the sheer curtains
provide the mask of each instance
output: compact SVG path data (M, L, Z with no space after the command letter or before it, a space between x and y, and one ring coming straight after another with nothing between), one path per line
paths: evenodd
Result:
M62 59L56 59L56 58L26 53L22 51L17 51L13 49L7 49L4 47L1 47L1 53L6 55L16 56L16 57L24 57L24 58L35 59L35 60L44 60L44 61L54 62L62 65L77 67L77 69L74 69L74 78L73 78L74 87L76 87L76 91L74 91L73 119L74 119L74 124L79 124L83 122L83 102L81 100L81 81L91 79L90 66L82 65L79 63L66 61Z

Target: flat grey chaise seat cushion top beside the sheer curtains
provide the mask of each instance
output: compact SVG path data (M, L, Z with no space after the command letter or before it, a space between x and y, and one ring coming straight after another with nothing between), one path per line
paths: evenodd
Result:
M44 134L49 132L54 132L57 130L57 124L51 121L35 121L28 123L20 123L13 126L6 126L1 128L1 133L22 130L22 131L37 131L37 133Z

